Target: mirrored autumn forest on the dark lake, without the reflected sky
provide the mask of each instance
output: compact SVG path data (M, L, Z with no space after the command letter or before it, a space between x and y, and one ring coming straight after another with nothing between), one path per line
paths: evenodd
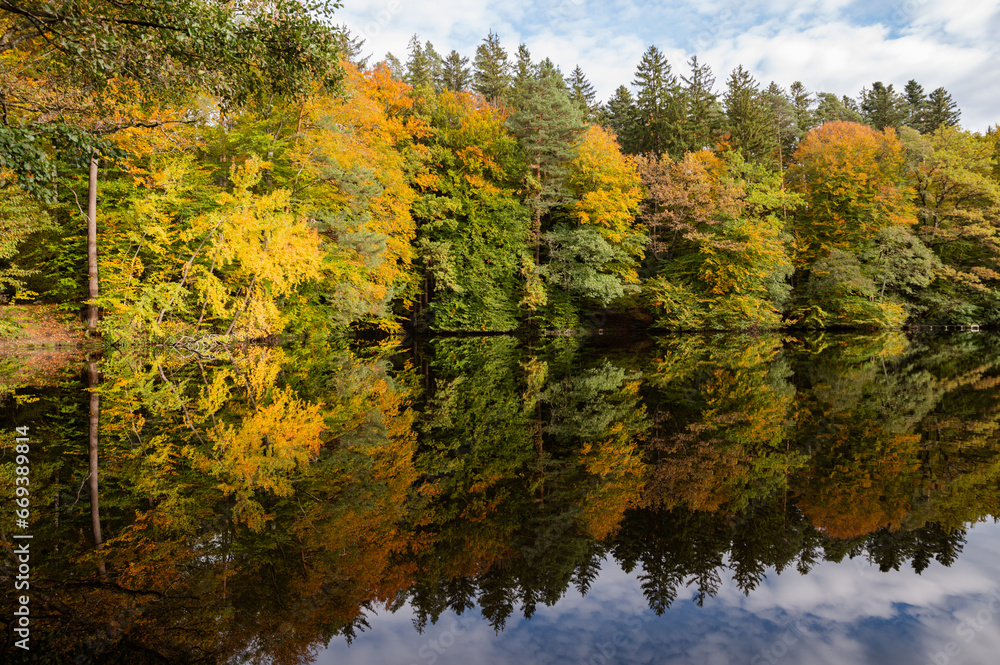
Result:
M689 591L756 597L769 571L953 565L966 525L1000 512L995 345L675 337L598 353L490 337L412 362L346 345L113 356L100 557L74 535L91 517L85 488L76 500L85 393L72 377L21 390L61 510L35 525L38 631L81 662L308 662L379 607L405 604L418 629L456 612L537 623L574 589L590 597L602 562L665 616Z

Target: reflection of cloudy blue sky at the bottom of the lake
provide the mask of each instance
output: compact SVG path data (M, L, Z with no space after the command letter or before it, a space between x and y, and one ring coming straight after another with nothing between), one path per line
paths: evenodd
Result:
M648 609L638 571L609 558L586 596L570 589L499 634L476 611L449 611L420 635L407 605L372 615L371 630L350 646L334 639L316 662L978 665L1000 653L997 552L1000 524L979 524L951 567L882 573L855 558L821 562L808 575L769 570L749 596L723 580L703 607L689 589L660 617Z

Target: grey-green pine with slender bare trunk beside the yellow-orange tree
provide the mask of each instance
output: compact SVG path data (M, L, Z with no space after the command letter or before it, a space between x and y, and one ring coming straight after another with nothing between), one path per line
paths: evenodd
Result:
M532 212L535 262L539 260L542 217L572 201L568 164L585 126L565 90L562 77L530 81L521 107L507 121L524 151L528 167L525 203Z

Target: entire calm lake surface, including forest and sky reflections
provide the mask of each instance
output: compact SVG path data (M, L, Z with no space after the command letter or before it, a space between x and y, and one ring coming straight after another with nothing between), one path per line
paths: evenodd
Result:
M1000 338L3 365L2 662L992 663ZM13 515L14 428L31 506ZM96 474L94 473L96 471Z

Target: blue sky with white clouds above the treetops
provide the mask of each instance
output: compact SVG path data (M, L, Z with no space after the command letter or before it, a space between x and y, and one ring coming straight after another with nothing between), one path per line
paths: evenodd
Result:
M697 54L718 90L738 64L763 85L851 96L912 78L947 88L963 127L1000 123L1000 0L344 0L337 21L376 59L404 59L415 33L472 56L493 30L510 52L523 42L564 72L579 64L602 99L655 44L681 74Z

